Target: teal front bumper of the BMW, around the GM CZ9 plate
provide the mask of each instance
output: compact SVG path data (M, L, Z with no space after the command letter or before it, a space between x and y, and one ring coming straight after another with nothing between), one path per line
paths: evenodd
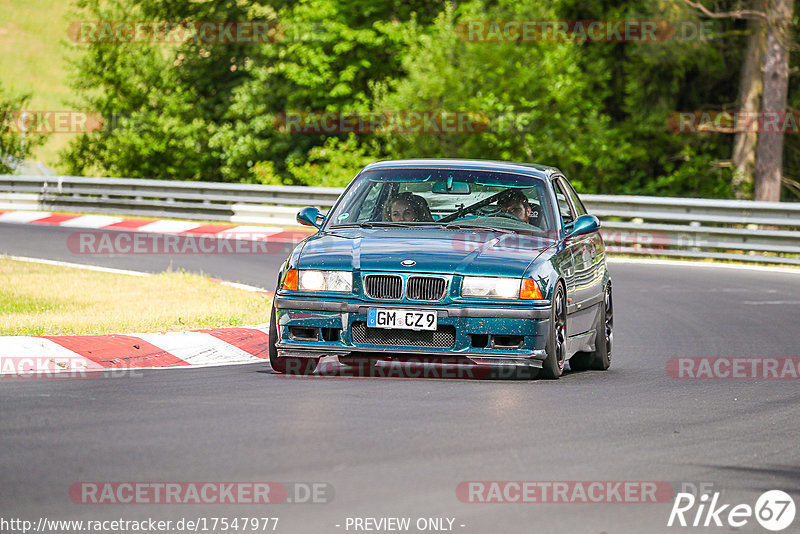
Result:
M442 336L434 336L438 341L431 343L421 340L424 334L413 331L387 333L375 332L383 329L366 329L367 310L375 307L408 309L411 306L277 295L278 354L293 358L365 356L392 360L411 357L433 362L456 357L478 365L528 367L541 367L546 358L548 302L539 303L537 307L414 304L414 308L435 310L439 329L446 331L444 342ZM308 335L298 338L295 335L298 329ZM379 335L370 339L364 335L367 330ZM317 338L308 339L315 332ZM397 336L393 336L393 332ZM508 340L514 343L509 344Z

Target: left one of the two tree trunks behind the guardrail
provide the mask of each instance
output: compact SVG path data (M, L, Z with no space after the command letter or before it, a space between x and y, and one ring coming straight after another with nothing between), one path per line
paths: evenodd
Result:
M764 0L753 0L752 9L764 11ZM764 46L767 40L767 26L762 20L748 22L750 34L747 37L742 71L739 75L739 98L737 111L745 112L746 117L755 117L761 109L761 93L764 87ZM750 195L753 171L756 167L756 145L758 133L755 131L737 132L733 139L733 190L736 198Z

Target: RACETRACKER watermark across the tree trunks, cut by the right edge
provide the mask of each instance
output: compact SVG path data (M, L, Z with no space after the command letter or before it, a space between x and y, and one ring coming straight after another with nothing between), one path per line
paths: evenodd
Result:
M675 111L673 133L800 133L800 111Z

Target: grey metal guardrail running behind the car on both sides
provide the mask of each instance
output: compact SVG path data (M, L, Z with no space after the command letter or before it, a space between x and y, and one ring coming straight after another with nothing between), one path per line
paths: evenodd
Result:
M0 210L295 224L342 189L130 178L0 175ZM800 265L800 203L582 195L610 252Z

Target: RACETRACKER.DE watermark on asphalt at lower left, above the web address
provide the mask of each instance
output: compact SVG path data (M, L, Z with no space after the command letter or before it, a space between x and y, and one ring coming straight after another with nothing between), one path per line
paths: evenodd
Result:
M76 482L75 504L327 504L327 482Z

